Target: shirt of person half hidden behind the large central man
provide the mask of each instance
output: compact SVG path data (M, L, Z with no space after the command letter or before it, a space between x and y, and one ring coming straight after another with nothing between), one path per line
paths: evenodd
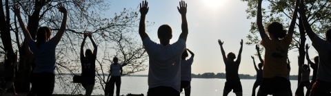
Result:
M181 81L192 80L191 77L191 65L193 63L193 56L191 56L188 60L181 60Z

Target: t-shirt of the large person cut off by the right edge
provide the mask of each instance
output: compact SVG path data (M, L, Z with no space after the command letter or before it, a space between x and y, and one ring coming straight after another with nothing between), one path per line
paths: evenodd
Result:
M317 80L331 82L331 43L315 35L312 38L312 46L319 53L319 67L317 69Z

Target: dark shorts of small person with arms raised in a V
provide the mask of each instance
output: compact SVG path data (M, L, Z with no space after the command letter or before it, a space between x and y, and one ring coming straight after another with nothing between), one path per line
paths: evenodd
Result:
M227 80L225 82L224 90L232 91L232 89L233 93L243 92L240 80Z

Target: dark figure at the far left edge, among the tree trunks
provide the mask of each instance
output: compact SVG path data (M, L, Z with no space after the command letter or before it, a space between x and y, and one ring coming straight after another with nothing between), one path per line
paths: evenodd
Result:
M17 65L17 51L15 52L15 58L14 60L7 58L8 51L5 52L5 58L4 58L4 67L5 67L5 81L6 81L6 86L0 91L0 96L2 96L8 88L12 86L14 90L14 95L17 95L15 91L15 86L14 86L14 78L15 78L15 67ZM12 57L12 56L10 56Z

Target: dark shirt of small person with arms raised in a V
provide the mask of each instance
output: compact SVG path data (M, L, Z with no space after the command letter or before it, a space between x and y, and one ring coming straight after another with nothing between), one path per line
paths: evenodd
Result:
M240 80L238 70L239 70L238 62L226 62L225 63L226 81Z

